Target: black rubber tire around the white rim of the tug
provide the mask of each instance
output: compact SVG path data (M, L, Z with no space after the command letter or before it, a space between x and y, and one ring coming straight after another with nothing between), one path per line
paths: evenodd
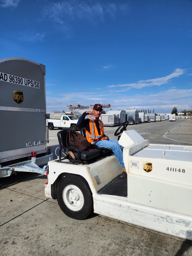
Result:
M84 203L80 210L71 210L66 204L69 202L64 202L63 192L68 186L76 186L81 191L84 197ZM65 192L64 192L65 193ZM72 193L73 194L73 193ZM69 194L70 195L70 194ZM70 218L76 220L86 219L93 212L93 196L91 189L87 181L78 175L69 175L61 179L57 187L57 201L61 210Z

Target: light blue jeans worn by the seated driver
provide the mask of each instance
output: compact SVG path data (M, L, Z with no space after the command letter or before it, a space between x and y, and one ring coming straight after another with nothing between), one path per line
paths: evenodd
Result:
M119 163L123 168L125 168L125 165L123 163L123 147L119 145L119 142L116 140L102 140L95 143L98 147L107 147L108 149L111 149L113 153L116 155Z

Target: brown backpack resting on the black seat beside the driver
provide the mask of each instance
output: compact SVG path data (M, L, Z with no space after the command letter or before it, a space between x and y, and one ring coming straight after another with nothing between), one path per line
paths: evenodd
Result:
M89 148L89 142L83 135L81 135L78 132L75 132L73 130L69 130L67 132L67 145L69 144L69 147L76 148L79 151L88 150Z

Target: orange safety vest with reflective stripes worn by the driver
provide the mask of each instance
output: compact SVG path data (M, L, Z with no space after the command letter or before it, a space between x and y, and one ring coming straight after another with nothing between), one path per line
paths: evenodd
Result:
M90 128L90 132L88 132L85 128L85 133L86 133L86 138L87 141L89 142L89 144L91 142L97 142L98 140L103 140L103 134L104 134L104 129L103 129L103 122L99 120L99 127L100 127L100 131L101 131L101 135L99 135L98 130L97 130L97 126L95 124L94 120L89 119L89 128Z

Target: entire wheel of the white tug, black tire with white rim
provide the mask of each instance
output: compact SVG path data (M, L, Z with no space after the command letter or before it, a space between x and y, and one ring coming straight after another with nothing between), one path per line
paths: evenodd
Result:
M81 176L70 175L60 180L57 201L61 210L73 219L86 219L93 212L92 193Z

